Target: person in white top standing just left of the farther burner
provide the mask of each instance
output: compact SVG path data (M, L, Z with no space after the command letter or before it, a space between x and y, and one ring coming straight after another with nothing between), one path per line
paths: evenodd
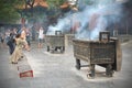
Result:
M38 30L38 45L37 45L38 48L42 48L43 40L44 40L44 30L41 26L40 30Z

